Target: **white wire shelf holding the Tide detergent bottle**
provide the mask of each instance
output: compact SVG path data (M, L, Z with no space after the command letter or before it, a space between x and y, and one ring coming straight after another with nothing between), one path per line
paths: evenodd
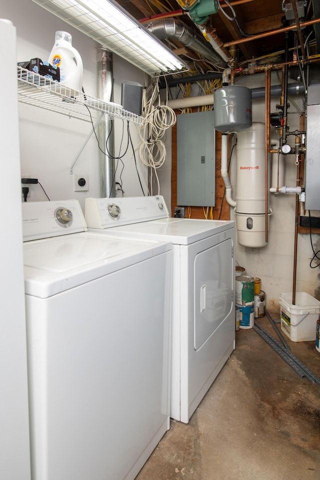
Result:
M101 113L141 124L143 117L124 110L116 103L94 98L61 83L17 66L18 100L46 110L85 121L97 120ZM91 117L90 117L91 115Z

